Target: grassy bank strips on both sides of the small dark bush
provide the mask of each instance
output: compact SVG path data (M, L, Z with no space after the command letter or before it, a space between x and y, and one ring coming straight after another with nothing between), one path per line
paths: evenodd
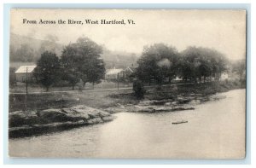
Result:
M176 99L177 96L190 94L212 95L245 88L244 84L235 82L185 84L177 86L163 86L147 88L144 98L148 100ZM90 107L114 107L117 104L137 104L139 100L133 96L132 90L101 90L101 91L73 91L65 93L44 93L26 95L9 95L9 112L17 110L41 110L47 108L72 107L83 104Z

